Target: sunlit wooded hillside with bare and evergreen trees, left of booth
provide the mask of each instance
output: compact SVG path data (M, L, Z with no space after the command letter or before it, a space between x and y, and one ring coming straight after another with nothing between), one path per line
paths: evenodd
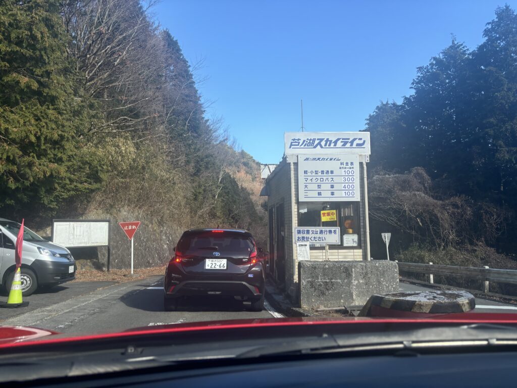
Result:
M149 18L152 5L0 2L0 214L36 228L139 219L141 249L163 260L191 227L249 229L262 244L245 182L260 180L259 165L208 120L196 64Z

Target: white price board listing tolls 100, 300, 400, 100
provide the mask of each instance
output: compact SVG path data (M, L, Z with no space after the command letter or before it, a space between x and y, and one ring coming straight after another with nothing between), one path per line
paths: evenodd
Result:
M300 202L360 201L358 155L299 155Z

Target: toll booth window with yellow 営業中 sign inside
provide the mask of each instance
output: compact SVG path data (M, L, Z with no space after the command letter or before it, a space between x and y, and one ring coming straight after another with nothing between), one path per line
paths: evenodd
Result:
M339 227L341 236L355 236L360 247L359 202L300 202L298 205L298 226L300 227ZM347 239L348 240L348 239ZM343 248L329 246L330 249Z

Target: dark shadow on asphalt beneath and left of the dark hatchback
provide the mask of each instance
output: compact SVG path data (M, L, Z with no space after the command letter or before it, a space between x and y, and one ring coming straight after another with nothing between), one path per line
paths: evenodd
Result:
M126 306L144 311L164 311L163 291L143 289L124 294L120 301ZM249 303L235 300L233 297L217 295L181 297L177 311L246 311Z

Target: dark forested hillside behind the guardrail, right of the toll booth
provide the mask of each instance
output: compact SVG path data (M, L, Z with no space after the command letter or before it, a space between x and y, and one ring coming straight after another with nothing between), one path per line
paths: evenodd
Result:
M412 95L367 120L377 257L388 231L399 260L514 265L499 253L517 253L515 11L498 8L483 37L474 50L453 38Z

